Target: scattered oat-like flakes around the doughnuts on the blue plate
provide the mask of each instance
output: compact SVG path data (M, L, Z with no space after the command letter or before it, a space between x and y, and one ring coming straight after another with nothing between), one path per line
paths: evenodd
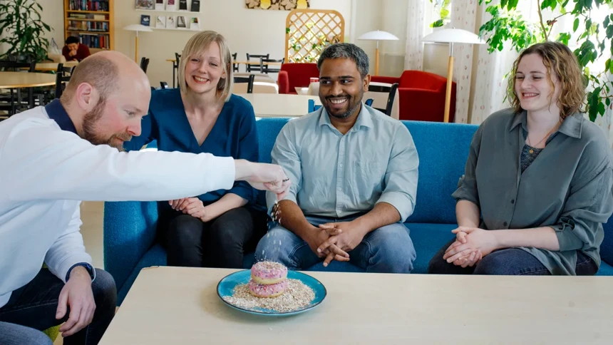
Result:
M238 284L232 296L224 300L236 307L257 311L258 308L279 312L296 311L308 306L315 299L315 292L298 279L287 279L287 289L279 297L254 297L247 284Z

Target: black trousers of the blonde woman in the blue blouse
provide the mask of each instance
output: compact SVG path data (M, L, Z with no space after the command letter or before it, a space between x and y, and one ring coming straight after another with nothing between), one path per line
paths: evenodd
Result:
M243 254L267 232L267 215L249 207L225 212L210 222L182 212L164 216L158 229L168 266L242 268Z

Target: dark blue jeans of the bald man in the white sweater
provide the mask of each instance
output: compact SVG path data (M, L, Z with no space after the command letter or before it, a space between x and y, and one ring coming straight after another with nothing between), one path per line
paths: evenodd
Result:
M0 344L51 344L51 339L41 331L62 324L70 315L68 308L66 316L56 320L63 286L64 283L48 269L41 269L31 282L16 289L9 302L0 308ZM65 345L98 344L115 316L117 292L113 277L96 269L91 289L96 302L93 320L81 331L64 338Z

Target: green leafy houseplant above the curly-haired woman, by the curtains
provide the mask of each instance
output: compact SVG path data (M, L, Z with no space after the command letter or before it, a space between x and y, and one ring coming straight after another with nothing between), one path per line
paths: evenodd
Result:
M490 4L492 0L479 0L479 5L484 2L488 6L485 11L492 18L480 27L479 35L487 37L490 53L503 51L505 43L516 51L553 39L566 45L576 43L574 53L587 86L589 120L596 120L597 115L604 115L606 108L612 106L613 81L607 74L613 73L613 57L604 61L604 66L600 61L609 52L613 56L613 0L537 0L539 20L535 22L522 16L517 9L518 0L500 0L496 5ZM552 19L543 19L544 11L551 11ZM604 14L602 22L592 20L592 11ZM554 27L564 16L573 19L572 31L562 29L557 37L552 37ZM590 71L590 66L594 71Z

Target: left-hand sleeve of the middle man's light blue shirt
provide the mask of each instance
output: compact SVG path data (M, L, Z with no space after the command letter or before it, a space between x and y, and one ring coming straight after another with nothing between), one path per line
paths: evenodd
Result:
M297 195L302 185L302 165L300 162L300 151L297 147L296 130L294 124L290 121L282 128L277 140L272 148L271 158L272 164L280 165L285 171L285 175L292 181L289 191L283 200L291 200L297 202ZM274 202L277 201L277 195L272 192L266 193L266 203L268 212L272 210Z

